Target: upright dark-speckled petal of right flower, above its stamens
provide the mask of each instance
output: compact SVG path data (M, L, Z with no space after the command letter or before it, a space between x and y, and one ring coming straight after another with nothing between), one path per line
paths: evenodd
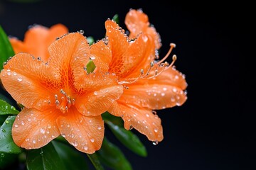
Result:
M112 50L110 72L117 74L119 78L132 73L134 77L139 77L140 70L145 69L145 65L149 67L154 60L154 42L143 34L127 42L127 37L117 23L106 21L105 26Z

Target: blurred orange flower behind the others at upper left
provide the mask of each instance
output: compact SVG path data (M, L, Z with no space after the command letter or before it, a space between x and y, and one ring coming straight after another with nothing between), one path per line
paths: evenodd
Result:
M68 33L68 28L58 23L50 28L35 25L26 32L24 41L10 38L14 52L28 52L35 57L41 57L46 62L49 57L48 46L60 37Z

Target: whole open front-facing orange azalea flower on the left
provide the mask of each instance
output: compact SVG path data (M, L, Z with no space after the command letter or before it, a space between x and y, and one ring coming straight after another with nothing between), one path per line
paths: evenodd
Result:
M16 116L12 137L26 149L40 148L59 135L81 152L100 149L101 113L122 94L112 74L87 74L90 47L80 33L70 33L48 47L45 63L18 53L4 65L1 81L25 108Z

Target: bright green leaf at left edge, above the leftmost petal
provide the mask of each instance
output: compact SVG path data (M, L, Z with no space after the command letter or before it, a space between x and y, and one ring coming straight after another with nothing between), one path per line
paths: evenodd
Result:
M14 50L11 47L9 38L0 26L0 70L3 69L3 63L12 56L14 56Z

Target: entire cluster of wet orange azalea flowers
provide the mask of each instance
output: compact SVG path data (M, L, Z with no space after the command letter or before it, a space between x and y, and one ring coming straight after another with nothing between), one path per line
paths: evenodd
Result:
M181 106L187 98L184 75L164 62L175 45L158 60L161 39L148 16L132 9L125 24L129 36L108 19L106 37L92 45L61 24L34 26L23 42L11 38L16 55L4 65L1 81L24 106L12 128L16 145L36 149L62 135L81 152L93 153L102 145L106 111L121 117L127 130L163 140L153 110Z

